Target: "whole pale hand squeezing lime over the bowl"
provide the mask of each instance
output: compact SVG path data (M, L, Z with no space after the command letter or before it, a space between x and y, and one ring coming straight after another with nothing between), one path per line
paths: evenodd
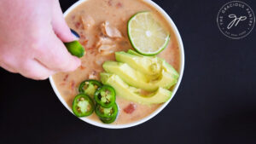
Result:
M74 40L58 0L1 0L0 66L26 78L73 71L80 60L62 42Z

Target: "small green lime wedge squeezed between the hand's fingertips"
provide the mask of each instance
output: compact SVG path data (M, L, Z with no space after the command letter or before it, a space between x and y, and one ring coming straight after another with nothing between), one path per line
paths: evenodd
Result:
M79 58L84 56L84 47L79 43L79 41L73 41L64 44L71 55L77 56Z

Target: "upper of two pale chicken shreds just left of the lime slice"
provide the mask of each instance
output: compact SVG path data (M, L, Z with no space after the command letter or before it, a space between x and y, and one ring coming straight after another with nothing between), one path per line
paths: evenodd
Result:
M102 23L101 30L102 30L102 33L108 37L112 37L112 38L122 37L121 32L119 32L117 28L109 26L108 21L105 21Z

